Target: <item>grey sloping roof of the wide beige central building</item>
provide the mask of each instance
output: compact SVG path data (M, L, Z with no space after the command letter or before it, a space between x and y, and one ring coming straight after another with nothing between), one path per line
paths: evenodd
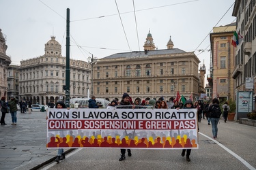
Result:
M102 59L109 59L109 58L127 58L127 57L137 57L137 56L154 56L154 55L163 55L163 54L180 54L180 53L187 53L184 50L180 50L179 48L173 49L165 49L165 50L150 50L147 51L134 51L134 52L123 52L123 53L116 53L110 56L106 56Z

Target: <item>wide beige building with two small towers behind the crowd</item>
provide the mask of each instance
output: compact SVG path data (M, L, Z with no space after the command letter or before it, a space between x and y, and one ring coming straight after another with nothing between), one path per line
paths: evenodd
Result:
M171 38L165 50L155 50L151 33L147 34L145 51L117 53L98 60L94 65L94 95L109 100L122 99L128 92L132 100L146 97L188 99L199 94L199 58L194 52L173 48ZM205 73L205 72L203 72ZM203 76L204 77L204 76Z

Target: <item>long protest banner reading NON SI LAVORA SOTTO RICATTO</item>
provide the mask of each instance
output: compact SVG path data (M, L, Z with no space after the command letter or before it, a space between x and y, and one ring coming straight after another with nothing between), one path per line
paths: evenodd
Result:
M48 109L47 148L198 148L197 109Z

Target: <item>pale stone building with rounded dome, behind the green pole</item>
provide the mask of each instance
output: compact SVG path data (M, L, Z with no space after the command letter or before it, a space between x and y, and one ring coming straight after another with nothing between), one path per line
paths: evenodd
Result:
M66 57L61 56L61 45L52 36L45 44L45 54L20 61L19 99L47 104L65 100ZM70 98L87 97L90 88L90 65L70 59Z

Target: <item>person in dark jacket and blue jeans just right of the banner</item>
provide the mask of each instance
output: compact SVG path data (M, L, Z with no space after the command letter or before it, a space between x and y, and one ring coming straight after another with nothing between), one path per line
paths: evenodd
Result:
M220 101L214 98L208 109L208 112L210 113L210 119L212 123L212 135L214 139L216 139L218 135L218 121L220 120L222 114L219 104Z

